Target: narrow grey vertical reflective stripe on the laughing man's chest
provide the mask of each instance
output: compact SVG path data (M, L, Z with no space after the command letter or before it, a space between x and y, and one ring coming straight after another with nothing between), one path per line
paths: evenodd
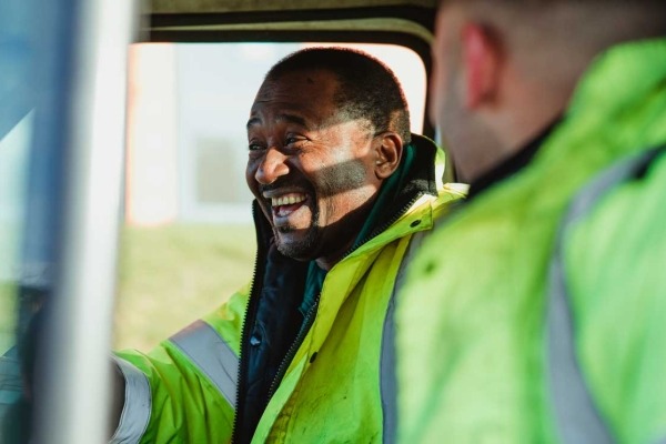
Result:
M395 294L400 291L405 279L405 271L410 260L423 241L426 231L415 233L407 246L393 284L393 292L389 300L386 317L382 332L382 351L380 357L380 389L382 394L383 411L383 442L395 443L397 440L397 379L395 375Z

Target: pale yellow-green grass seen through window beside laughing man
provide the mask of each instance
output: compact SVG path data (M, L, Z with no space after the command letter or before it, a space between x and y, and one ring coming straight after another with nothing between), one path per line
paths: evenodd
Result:
M218 307L251 279L255 243L251 225L124 228L114 349L148 351Z

